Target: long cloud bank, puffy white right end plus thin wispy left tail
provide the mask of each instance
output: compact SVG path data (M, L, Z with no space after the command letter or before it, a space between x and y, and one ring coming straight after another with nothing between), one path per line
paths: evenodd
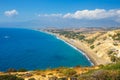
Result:
M94 9L94 10L78 10L74 13L66 14L39 14L42 17L60 17L63 19L77 19L77 20L113 20L120 23L120 9Z

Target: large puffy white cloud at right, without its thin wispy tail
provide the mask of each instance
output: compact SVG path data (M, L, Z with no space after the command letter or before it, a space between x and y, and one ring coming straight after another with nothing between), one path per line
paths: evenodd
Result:
M105 19L105 18L120 18L120 10L79 10L75 13L67 13L63 18L75 18L75 19Z

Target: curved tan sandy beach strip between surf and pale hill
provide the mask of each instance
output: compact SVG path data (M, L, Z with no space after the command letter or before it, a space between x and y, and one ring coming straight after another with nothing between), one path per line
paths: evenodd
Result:
M62 35L55 34L56 37L68 42L69 44L75 46L77 49L82 51L85 56L90 60L94 65L100 65L100 64L108 64L108 61L105 59L98 57L85 43L79 41L79 40L73 40L68 39Z

